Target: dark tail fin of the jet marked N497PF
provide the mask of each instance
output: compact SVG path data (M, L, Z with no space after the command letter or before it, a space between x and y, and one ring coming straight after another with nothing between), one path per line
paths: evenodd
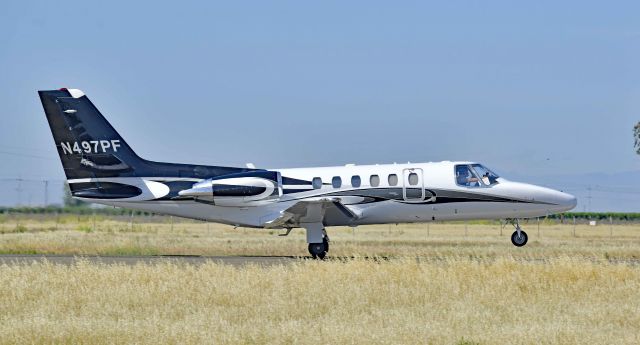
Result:
M68 180L113 177L211 178L252 169L152 162L140 158L85 94L38 91Z

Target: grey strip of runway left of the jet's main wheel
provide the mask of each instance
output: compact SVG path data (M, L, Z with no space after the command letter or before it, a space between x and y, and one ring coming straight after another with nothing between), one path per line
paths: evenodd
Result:
M32 263L50 262L53 264L72 265L79 261L98 264L156 264L172 262L178 264L201 265L207 262L232 266L283 265L304 260L294 256L198 256L198 255L158 255L158 256L97 256L97 255L0 255L0 265L28 265Z

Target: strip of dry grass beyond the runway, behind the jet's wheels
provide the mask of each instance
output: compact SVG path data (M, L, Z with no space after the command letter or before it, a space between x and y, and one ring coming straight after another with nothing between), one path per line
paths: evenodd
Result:
M518 257L640 259L640 224L522 223L529 243L514 247L499 223L435 223L329 228L333 257ZM130 221L96 216L0 218L0 254L307 256L305 233L234 229L169 217Z

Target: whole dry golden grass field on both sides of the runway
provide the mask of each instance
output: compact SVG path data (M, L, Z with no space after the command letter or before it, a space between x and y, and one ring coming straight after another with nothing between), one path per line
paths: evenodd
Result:
M173 223L173 224L172 224ZM0 265L0 344L639 344L640 226L330 229L326 261ZM304 232L5 217L2 253L306 256Z

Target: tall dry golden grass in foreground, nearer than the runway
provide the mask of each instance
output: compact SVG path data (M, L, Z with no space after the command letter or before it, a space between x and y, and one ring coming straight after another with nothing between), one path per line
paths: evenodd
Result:
M0 343L638 344L640 269L393 259L0 266Z

